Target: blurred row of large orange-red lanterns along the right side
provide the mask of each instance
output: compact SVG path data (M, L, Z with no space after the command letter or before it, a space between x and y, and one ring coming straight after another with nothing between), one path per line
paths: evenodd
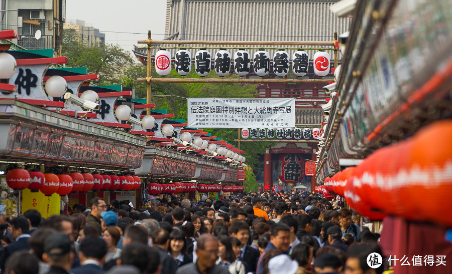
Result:
M438 145L438 136L444 142ZM383 147L325 187L370 219L396 215L452 226L452 120L437 121L412 138ZM449 209L447 209L449 208Z

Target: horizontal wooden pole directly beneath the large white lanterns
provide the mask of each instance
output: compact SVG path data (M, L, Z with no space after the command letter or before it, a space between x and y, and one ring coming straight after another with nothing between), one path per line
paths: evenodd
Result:
M326 83L331 79L138 78L138 83Z

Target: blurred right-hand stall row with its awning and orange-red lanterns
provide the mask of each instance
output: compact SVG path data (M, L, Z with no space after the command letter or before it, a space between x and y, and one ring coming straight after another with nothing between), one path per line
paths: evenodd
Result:
M374 221L394 273L452 265L451 15L448 1L362 1L340 36L316 190Z

